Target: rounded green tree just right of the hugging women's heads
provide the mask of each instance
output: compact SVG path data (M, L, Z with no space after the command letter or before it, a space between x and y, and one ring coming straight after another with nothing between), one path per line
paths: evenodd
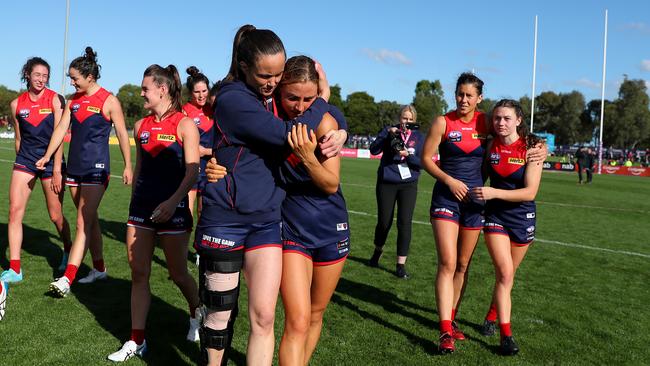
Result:
M366 92L349 94L344 112L351 134L375 134L381 127L375 98Z

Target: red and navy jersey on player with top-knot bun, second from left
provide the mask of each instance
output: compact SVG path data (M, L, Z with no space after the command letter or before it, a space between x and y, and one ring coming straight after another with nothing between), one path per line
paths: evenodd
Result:
M70 100L69 174L110 172L108 137L113 123L103 112L110 95L109 91L100 88L93 95L77 93Z

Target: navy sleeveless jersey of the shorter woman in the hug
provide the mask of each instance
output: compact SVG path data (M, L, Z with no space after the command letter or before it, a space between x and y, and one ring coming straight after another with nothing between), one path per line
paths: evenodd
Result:
M342 115L333 114L339 126ZM281 165L286 190L282 202L282 237L307 248L320 248L350 237L348 211L341 187L326 194L312 182L307 169L293 153ZM317 154L318 155L318 154Z

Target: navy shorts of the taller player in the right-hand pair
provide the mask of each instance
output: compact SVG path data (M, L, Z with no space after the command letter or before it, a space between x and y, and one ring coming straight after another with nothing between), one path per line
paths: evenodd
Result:
M449 188L436 183L431 197L430 215L432 220L451 221L462 229L480 230L483 228L484 202L458 202Z

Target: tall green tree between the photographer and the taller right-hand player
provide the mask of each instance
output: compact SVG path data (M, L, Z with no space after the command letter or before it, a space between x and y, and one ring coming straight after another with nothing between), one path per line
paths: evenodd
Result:
M415 85L413 106L418 112L418 121L424 131L429 129L433 119L447 110L442 84L439 80L420 80Z

